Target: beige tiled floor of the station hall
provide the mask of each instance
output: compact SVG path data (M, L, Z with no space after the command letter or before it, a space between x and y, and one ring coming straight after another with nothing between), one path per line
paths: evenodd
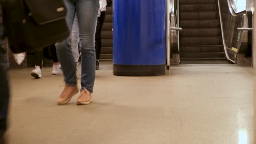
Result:
M97 70L94 103L57 106L62 75L34 80L10 70L11 144L253 143L253 70L172 67L166 76L113 76Z

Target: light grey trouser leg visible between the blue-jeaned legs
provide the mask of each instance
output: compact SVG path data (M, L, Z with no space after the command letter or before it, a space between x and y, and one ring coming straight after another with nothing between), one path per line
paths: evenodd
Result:
M73 26L72 26L72 32L71 32L71 49L74 55L75 63L78 67L78 59L79 59L79 27L78 27L78 20L77 20L77 13L75 13ZM78 70L75 70L75 75L78 77Z

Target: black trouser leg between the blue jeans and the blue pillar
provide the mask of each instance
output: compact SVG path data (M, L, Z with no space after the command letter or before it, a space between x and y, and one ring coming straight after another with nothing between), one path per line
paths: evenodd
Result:
M95 34L95 49L96 59L100 59L101 56L101 30L106 17L106 11L101 11L101 16L98 17L96 34Z

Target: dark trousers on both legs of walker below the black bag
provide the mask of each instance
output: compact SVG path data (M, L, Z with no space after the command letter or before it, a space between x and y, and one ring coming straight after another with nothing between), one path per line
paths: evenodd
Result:
M48 48L48 47L46 47L46 48ZM51 57L53 57L53 62L54 63L59 62L59 60L57 58L57 52L56 52L55 45L50 46L50 51L51 51ZM40 66L40 68L43 67L43 56L44 56L43 50L34 52L34 64L37 66Z

